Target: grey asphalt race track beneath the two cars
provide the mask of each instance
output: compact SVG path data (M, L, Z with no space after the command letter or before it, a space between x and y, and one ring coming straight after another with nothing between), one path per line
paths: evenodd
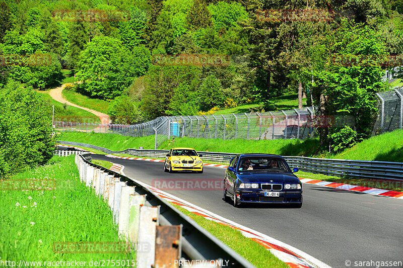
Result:
M122 164L128 177L149 185L153 180L223 179L225 173L224 168L205 166L203 174L171 174L163 171L162 162L96 154L92 158ZM222 200L222 190L164 191L292 245L332 267L346 267L346 260L351 266L355 261L403 261L403 200L309 184L302 187L300 209L275 205L234 208Z

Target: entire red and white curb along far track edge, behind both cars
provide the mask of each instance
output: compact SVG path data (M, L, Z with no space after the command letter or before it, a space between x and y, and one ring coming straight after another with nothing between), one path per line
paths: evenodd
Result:
M153 162L164 162L163 159L125 157L125 156L115 156L115 155L111 155L111 154L107 154L106 156L112 157L112 158L128 159L128 160L145 160L145 161L153 161ZM221 167L221 168L228 167L228 165L208 164L208 163L205 163L203 165L211 166L211 167ZM377 189L377 188L368 188L368 187L350 185L350 184L332 183L332 182L326 182L326 181L320 181L320 180L313 180L312 178L299 178L299 179L302 183L305 183L305 184L319 185L319 186L330 187L330 188L334 188L334 189L341 189L341 190L346 190L346 191L361 192L361 193L365 193L365 194L372 194L372 195L378 195L378 196L403 199L402 192L389 191L389 190L383 190L383 189Z

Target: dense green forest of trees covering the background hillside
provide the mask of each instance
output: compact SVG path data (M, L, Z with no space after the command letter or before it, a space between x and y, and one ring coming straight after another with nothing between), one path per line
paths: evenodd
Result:
M111 100L108 113L129 124L250 101L267 111L272 97L304 93L320 115L356 119L354 130L320 129L323 146L371 134L393 67L334 59L403 54L399 0L0 0L0 25L0 54L48 55L3 57L1 87L53 87L70 69L77 92Z

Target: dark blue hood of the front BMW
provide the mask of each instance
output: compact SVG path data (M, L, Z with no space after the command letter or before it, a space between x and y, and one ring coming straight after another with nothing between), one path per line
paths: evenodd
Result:
M270 181L273 181L273 183L299 183L299 179L289 172L242 171L237 175L244 183L271 183Z

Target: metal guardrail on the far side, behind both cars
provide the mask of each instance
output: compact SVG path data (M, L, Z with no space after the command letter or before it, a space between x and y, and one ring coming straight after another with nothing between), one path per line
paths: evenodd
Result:
M109 149L94 146L91 144L59 141L66 145L84 146L97 149L105 153L127 153L133 156L158 157L165 158L168 150L144 150L144 149L126 149L124 151L111 151ZM229 162L236 153L222 152L197 152L202 154L201 159L207 161ZM345 160L313 158L303 156L284 156L291 167L298 167L302 171L321 173L325 175L350 176L365 179L388 179L403 181L403 163L385 162L385 161L364 161L364 160Z

